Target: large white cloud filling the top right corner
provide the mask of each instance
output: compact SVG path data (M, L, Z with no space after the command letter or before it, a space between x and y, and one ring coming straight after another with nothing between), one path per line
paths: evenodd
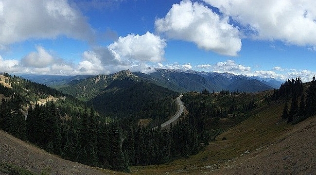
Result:
M241 25L245 35L316 45L315 0L204 0ZM249 32L250 31L250 32Z

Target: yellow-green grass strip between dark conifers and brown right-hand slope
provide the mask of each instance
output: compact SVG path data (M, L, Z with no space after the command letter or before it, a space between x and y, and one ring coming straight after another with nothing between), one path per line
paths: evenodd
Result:
M163 174L166 172L200 173L203 167L216 167L225 162L240 157L245 152L252 152L277 141L281 135L290 129L291 125L281 121L284 107L282 103L271 102L264 105L260 99L266 92L248 94L244 97L235 97L235 103L247 102L253 98L259 100L259 108L248 113L249 118L237 124L228 131L220 134L216 140L210 142L205 150L189 158L174 160L169 164L152 165L144 167L131 167L131 172L136 174ZM214 96L213 96L214 98ZM244 98L244 100L242 99ZM222 105L227 101L218 94L217 102ZM222 140L226 137L227 140ZM199 167L199 168L198 168Z

